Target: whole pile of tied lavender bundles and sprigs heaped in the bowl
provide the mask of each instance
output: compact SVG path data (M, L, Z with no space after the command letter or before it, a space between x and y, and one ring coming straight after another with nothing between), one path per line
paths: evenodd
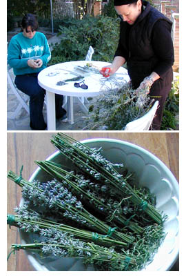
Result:
M33 244L12 244L43 257L76 257L96 270L141 270L152 262L165 238L165 217L154 196L137 188L132 175L121 175L101 149L59 133L51 139L74 164L65 170L52 161L35 161L52 180L27 181L8 172L22 188L24 205L8 215L8 224L37 234Z

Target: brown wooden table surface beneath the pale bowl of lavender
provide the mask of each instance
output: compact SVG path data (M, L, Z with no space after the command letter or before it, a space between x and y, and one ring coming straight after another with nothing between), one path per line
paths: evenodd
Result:
M55 133L50 132L8 132L8 171L12 170L19 175L19 170L23 165L22 175L29 179L37 165L34 160L44 160L56 151L50 143L50 137ZM146 150L152 152L161 159L172 171L176 179L179 177L179 133L178 132L67 132L67 135L79 141L91 138L110 138L128 141ZM21 188L8 179L7 186L8 213L14 214L13 209L19 206L21 199ZM8 253L10 253L11 244L19 244L19 233L14 226L11 229L8 226ZM7 255L8 255L7 253ZM8 271L32 271L34 268L29 264L25 253L20 250L10 256L8 260ZM172 268L178 271L178 261Z

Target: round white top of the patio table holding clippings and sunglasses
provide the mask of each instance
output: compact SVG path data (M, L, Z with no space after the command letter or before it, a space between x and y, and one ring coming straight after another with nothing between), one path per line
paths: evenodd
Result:
M91 66L86 66L91 64ZM99 70L110 63L103 61L69 61L58 63L43 69L38 75L39 85L50 92L74 97L94 97L111 89L118 89L130 80L127 70L119 68L112 77L103 77ZM99 69L97 69L99 68ZM86 72L85 72L86 70ZM74 72L72 74L71 72ZM78 81L69 81L78 76ZM74 87L74 82L84 80L88 89ZM65 83L65 84L63 84ZM62 85L63 84L63 85Z

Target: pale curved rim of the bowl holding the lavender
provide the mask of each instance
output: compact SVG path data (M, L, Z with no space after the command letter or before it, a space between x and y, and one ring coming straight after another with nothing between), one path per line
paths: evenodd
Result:
M169 170L169 168L163 163L163 161L161 161L158 157L156 157L156 155L154 155L152 152L149 152L149 150L146 150L145 148L143 148L141 146L138 146L136 144L132 144L131 142L123 141L123 140L120 140L120 139L90 138L90 139L83 139L80 142L83 143L83 144L90 144L92 142L99 142L99 141L115 142L115 143L123 144L125 146L129 146L130 148L135 148L136 150L139 150L140 152L143 152L143 154L145 154L145 155L149 155L150 158L152 158L155 162L157 162L159 164L159 166L161 166L163 168L163 170L165 170L165 172L169 175L169 177L174 182L174 188L176 190L176 193L177 193L177 196L178 196L178 201L179 201L178 181L176 180L176 177L174 177L171 170ZM60 151L56 150L55 152L52 153L52 155L48 156L47 159L45 159L45 160L48 161L48 160L56 157L56 155L59 155L59 154L60 154ZM36 170L34 170L34 172L32 173L29 181L33 181L40 170L41 170L41 168L37 168ZM178 238L178 236L179 236L179 233L177 235L177 238ZM176 243L178 243L178 241L176 241ZM166 264L163 265L160 270L161 271L169 271L172 268L172 266L174 266L174 264L176 263L176 260L178 259L178 255L179 255L179 248L177 246L177 248L175 249L174 255L172 255L172 262L170 262L168 265L166 265ZM33 260L31 261L29 256L28 256L28 259L31 262L32 266L34 266L34 264L32 262ZM35 262L37 262L37 261L35 261ZM40 264L36 264L36 266L34 266L34 268L36 268L36 267L39 268L39 265ZM164 268L164 269L162 269L162 268ZM145 269L144 269L144 271L145 271Z

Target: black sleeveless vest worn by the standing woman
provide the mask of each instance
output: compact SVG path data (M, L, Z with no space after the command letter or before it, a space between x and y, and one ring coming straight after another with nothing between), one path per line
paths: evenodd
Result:
M154 24L160 19L165 20L169 23L170 32L172 29L172 21L150 6L147 1L143 1L143 4L146 8L136 19L133 26L129 27L126 22L121 22L121 34L127 33L127 28L130 28L128 41L122 38L122 43L128 43L126 48L130 50L129 59L127 60L127 70L134 89L138 88L141 81L154 71L158 63L158 58L154 54L151 43ZM172 76L172 68L169 68L165 75L161 76L161 79L154 82L151 94L152 92L160 92L163 87L169 86L172 83Z

